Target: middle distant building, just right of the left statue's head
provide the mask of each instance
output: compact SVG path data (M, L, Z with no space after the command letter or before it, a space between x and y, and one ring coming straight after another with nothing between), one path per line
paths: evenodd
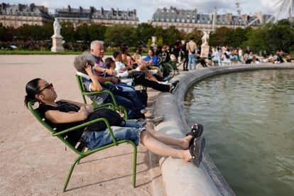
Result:
M129 25L137 26L139 21L136 16L136 9L133 11L120 11L119 9L114 10L104 10L103 8L97 10L94 7L89 9L72 9L67 6L66 9L56 9L55 18L58 21L73 23L74 26L78 26L82 23L87 24L102 24L104 26L114 26L114 25Z

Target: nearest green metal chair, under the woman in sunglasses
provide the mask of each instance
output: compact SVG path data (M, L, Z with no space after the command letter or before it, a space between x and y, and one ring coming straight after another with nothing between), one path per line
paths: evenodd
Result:
M130 140L127 140L127 139L116 140L116 138L114 137L114 134L113 134L113 132L112 132L110 126L109 126L109 122L107 121L107 119L104 119L104 118L94 119L92 121L88 121L87 123L80 124L78 126L74 126L74 127L70 128L70 129L65 129L63 131L56 131L53 127L51 127L45 121L45 119L43 119L43 117L38 112L38 109L34 109L33 108L33 104L35 102L36 101L28 102L28 109L31 111L31 113L33 113L33 116L36 117L36 119L40 122L40 124L43 124L43 126L45 126L45 128L47 128L50 131L50 133L51 133L52 136L58 137L63 143L65 143L66 146L68 146L70 149L72 149L72 151L74 151L78 155L78 157L75 158L74 162L72 163L72 165L70 167L70 170L69 170L69 172L67 174L67 178L65 180L65 184L63 185L63 192L65 192L65 190L67 188L67 184L68 184L68 182L70 180L70 177L72 175L72 171L75 168L75 165L77 163L79 163L79 161L82 158L85 158L85 157L87 157L89 155L92 155L92 153L96 153L97 151L102 151L102 150L104 150L106 148L110 148L112 146L119 146L119 144L121 144L121 143L131 143L131 145L134 148L133 186L136 187L137 146L134 143L134 141L130 141ZM77 129L81 129L82 127L88 126L89 124L94 124L94 123L96 123L98 121L104 121L104 123L107 125L107 129L109 130L109 133L111 135L111 138L112 138L113 143L109 143L109 144L107 144L105 146L102 146L102 147L99 147L99 148L95 148L95 149L92 149L92 150L88 149L88 151L85 151L86 147L82 143L71 141L70 139L64 137L64 134L66 134L66 133L68 133L70 131L75 131Z

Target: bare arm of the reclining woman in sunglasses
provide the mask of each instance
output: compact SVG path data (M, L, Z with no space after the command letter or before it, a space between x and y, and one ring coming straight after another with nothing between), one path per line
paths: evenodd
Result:
M72 123L84 121L87 119L89 112L86 107L80 107L78 112L62 112L58 110L48 110L45 112L45 117L55 124Z

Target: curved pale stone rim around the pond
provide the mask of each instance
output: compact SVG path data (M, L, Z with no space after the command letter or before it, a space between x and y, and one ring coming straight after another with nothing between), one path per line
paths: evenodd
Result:
M293 64L279 65L230 65L207 67L178 75L174 80L180 80L175 94L160 93L156 99L155 113L165 114L165 120L156 126L164 134L181 138L190 129L186 120L184 97L187 89L195 82L213 75L249 70L294 69ZM227 182L222 177L207 151L200 168L192 163L171 157L158 157L163 183L167 195L234 195Z

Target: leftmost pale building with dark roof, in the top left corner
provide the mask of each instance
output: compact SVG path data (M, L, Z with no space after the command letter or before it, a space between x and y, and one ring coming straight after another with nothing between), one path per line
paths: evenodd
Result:
M23 25L40 25L53 20L44 6L0 4L0 25L18 28Z

